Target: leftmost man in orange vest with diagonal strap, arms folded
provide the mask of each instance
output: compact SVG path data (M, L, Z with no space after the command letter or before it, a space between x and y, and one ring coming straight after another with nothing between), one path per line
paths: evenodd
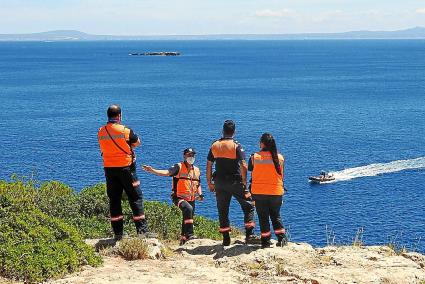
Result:
M114 238L121 240L124 234L121 207L123 191L128 196L137 233L140 236L152 237L153 234L148 233L143 194L136 174L136 157L133 151L140 145L140 139L132 129L121 124L121 108L118 105L111 105L107 115L108 123L100 127L97 137L103 158Z

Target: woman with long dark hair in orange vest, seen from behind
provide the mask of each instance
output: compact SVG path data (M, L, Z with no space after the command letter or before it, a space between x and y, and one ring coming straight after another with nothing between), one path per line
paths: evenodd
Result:
M261 246L271 246L269 218L278 239L277 246L284 246L288 242L280 217L284 194L284 158L277 152L276 142L269 133L261 136L260 149L249 159L248 170L252 171L250 190L260 222Z

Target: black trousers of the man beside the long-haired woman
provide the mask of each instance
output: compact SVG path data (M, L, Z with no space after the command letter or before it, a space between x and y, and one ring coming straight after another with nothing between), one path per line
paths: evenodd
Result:
M239 181L215 181L215 194L217 198L218 219L220 221L220 232L230 232L229 221L229 206L232 196L241 205L244 213L244 222L246 235L253 233L254 223L254 205L252 203L251 194L244 188L243 184Z

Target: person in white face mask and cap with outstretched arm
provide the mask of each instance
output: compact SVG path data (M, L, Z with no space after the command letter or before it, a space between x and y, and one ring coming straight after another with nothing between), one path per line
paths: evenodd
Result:
M194 166L195 150L187 148L183 151L183 161L175 164L168 170L157 170L151 166L143 165L143 170L158 176L173 177L171 198L173 203L183 213L180 245L196 238L193 234L193 216L195 213L195 200L203 200L200 171Z

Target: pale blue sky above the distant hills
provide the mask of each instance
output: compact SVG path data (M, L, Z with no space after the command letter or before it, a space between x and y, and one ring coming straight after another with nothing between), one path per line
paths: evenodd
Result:
M0 33L110 35L342 32L425 27L417 0L0 0Z

